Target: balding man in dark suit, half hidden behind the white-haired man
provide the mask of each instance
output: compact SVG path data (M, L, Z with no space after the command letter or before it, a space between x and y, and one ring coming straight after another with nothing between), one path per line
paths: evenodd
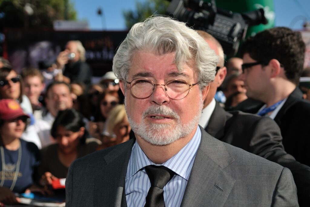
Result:
M310 167L295 161L290 154L285 152L277 123L269 117L241 111L226 112L215 101L216 90L226 76L223 48L212 35L201 30L197 32L219 56L219 69L215 75L215 81L210 83L199 125L204 127L211 136L223 142L289 168L297 186L299 205L309 206Z

